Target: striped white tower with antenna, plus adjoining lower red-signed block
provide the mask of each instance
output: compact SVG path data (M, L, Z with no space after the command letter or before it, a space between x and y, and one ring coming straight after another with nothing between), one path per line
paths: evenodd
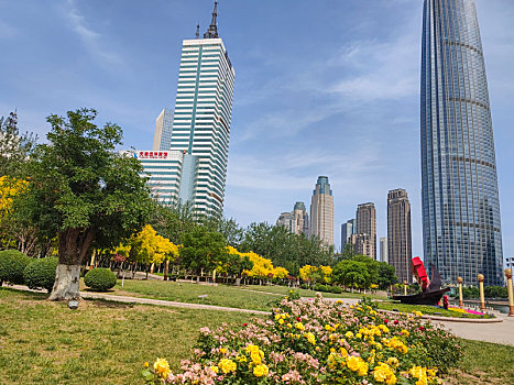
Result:
M156 122L158 151L135 153L154 157L142 162L144 174L151 182L165 183L166 204L189 202L197 215L206 216L223 209L236 75L218 35L217 6L204 38L197 32L196 38L183 42L175 112L164 110ZM171 154L181 158L179 172L167 168Z

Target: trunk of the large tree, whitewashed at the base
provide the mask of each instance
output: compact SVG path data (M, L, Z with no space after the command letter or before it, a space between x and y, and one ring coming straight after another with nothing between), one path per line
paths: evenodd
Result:
M95 239L92 230L67 229L58 234L58 265L50 300L79 299L80 264Z

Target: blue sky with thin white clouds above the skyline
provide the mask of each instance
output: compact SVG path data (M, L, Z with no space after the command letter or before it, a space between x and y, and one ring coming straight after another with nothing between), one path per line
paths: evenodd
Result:
M475 0L496 143L504 254L514 255L514 2ZM221 0L236 68L226 216L274 222L310 206L318 175L335 196L336 240L358 204L407 189L423 255L419 169L422 0ZM0 0L0 116L44 138L45 117L79 107L150 148L175 105L183 38L211 0Z

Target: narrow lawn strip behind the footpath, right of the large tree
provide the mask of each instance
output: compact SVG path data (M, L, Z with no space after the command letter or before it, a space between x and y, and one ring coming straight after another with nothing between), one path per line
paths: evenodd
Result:
M151 279L125 279L123 287L121 287L121 280L118 280L112 294L264 311L271 310L271 301L281 299L281 297L274 295L243 292L233 286ZM200 295L207 295L207 297L198 298Z

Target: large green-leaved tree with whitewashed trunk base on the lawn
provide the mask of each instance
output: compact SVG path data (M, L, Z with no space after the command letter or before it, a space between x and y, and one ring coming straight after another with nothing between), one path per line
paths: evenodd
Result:
M20 197L31 220L58 238L53 300L78 298L81 262L91 246L112 248L146 222L151 199L138 160L114 151L121 128L94 123L91 109L52 114L47 144L36 147L30 188Z

